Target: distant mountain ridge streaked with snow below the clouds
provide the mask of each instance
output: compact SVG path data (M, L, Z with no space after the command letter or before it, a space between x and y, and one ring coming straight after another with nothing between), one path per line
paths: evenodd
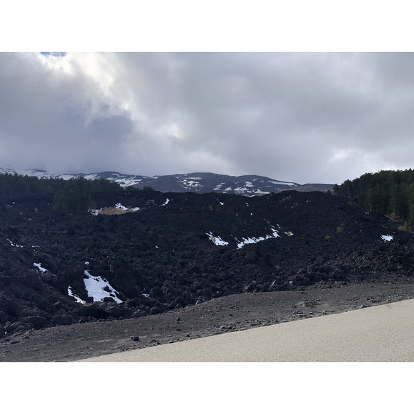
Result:
M146 175L121 174L115 171L52 175L46 170L12 170L11 168L0 168L1 174L14 174L14 172L19 175L29 175L39 178L71 179L84 177L86 179L108 179L109 181L117 182L123 187L133 186L143 188L144 186L150 186L157 191L179 193L192 191L195 193L214 192L253 196L279 193L283 190L327 191L332 190L333 187L332 184L297 184L259 175L234 177L231 175L213 174L211 172L191 172L188 174L148 177Z

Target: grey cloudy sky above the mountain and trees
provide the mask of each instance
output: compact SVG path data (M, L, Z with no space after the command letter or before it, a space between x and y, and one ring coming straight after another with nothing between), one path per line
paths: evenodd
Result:
M413 168L410 52L0 53L0 166L340 183Z

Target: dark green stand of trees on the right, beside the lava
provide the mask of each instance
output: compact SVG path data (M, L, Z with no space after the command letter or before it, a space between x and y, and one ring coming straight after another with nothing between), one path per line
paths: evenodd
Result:
M414 224L414 170L367 172L333 186L333 193L366 211L378 211Z

